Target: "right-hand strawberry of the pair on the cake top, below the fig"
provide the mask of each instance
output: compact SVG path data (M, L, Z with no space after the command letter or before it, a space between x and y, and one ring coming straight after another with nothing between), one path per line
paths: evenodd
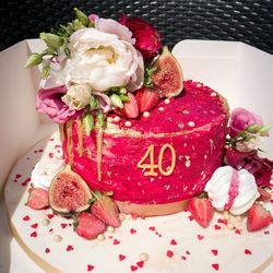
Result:
M136 92L135 96L139 104L140 112L151 110L159 99L159 95L156 90L146 87L140 88Z

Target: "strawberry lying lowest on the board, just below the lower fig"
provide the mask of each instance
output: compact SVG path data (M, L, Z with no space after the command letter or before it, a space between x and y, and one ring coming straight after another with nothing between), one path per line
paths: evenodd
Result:
M94 239L105 230L105 224L88 212L78 214L74 223L76 234L85 239Z

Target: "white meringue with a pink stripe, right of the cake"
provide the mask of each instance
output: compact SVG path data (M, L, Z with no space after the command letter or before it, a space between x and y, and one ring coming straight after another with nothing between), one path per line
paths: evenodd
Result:
M230 188L232 187L232 188ZM247 212L260 197L253 175L230 166L217 168L204 189L218 211L229 210L234 215Z

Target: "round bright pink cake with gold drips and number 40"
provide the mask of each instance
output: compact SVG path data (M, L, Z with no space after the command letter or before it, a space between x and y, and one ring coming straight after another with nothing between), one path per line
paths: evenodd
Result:
M64 158L91 189L112 191L123 212L175 213L219 167L227 119L222 96L186 81L178 97L149 115L130 121L111 115L102 133L86 135L80 119L66 123Z

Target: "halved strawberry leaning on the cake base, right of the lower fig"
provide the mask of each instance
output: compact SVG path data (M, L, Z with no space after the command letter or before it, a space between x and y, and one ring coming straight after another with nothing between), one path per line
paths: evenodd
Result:
M116 202L107 197L103 195L99 192L95 193L96 201L93 203L91 210L92 213L103 221L106 225L112 227L120 226L120 218L119 218L119 210Z

